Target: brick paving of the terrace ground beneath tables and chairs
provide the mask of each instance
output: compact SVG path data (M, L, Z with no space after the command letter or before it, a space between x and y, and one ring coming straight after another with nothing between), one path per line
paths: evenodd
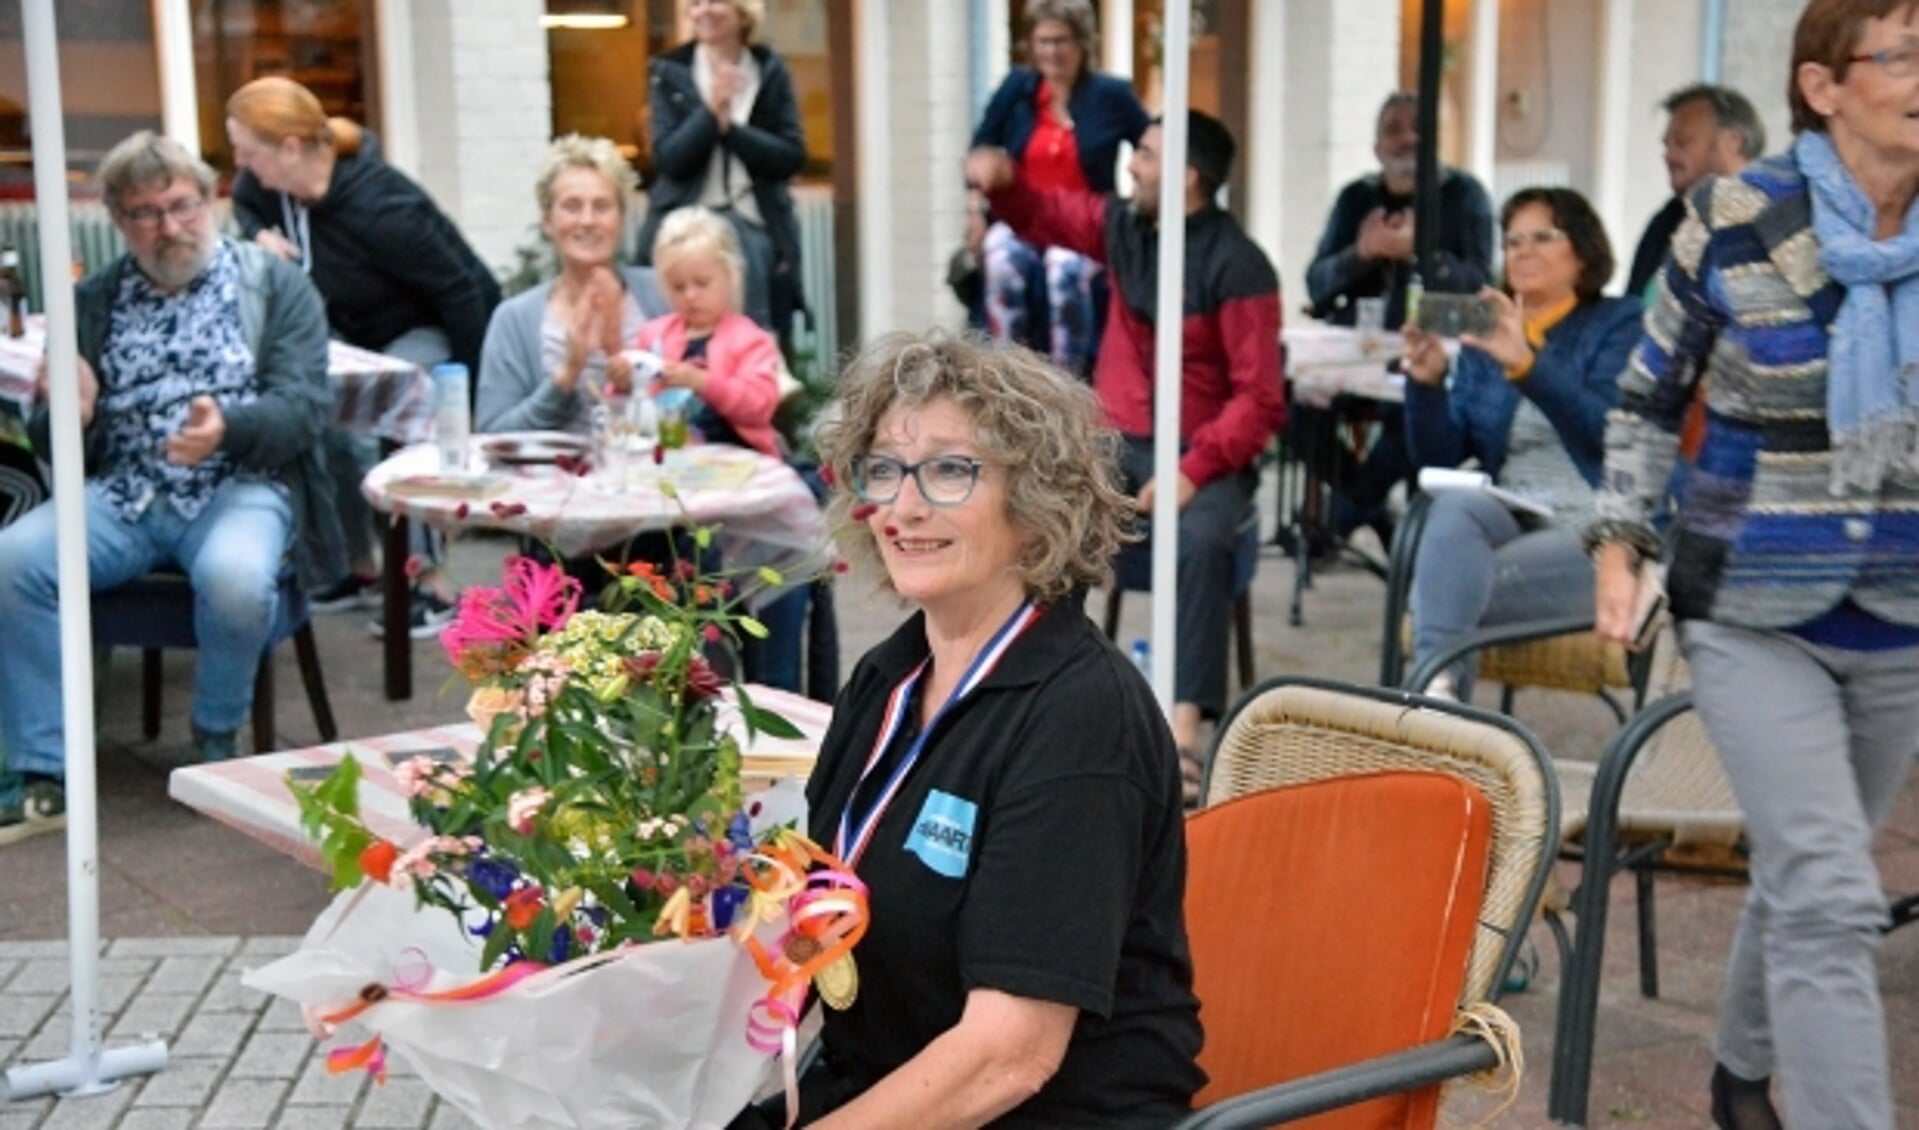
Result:
M499 543L461 543L462 581L497 576ZM1307 627L1286 624L1291 564L1272 551L1255 581L1255 637L1263 675L1295 671L1370 681L1378 668L1382 589L1370 576L1339 568L1318 577ZM1100 600L1100 597L1094 597ZM1126 600L1123 639L1144 635L1148 600ZM858 581L841 585L846 664L890 631L900 612ZM409 729L457 714L438 687L447 675L432 641L415 647L413 702L380 696L378 656L367 614L317 620L334 710L347 737ZM280 656L280 741L317 741L299 696L292 656ZM326 906L324 879L165 796L165 773L186 758L190 656L167 658L167 714L155 742L138 737L132 656L117 656L100 679L102 777L102 948L100 990L107 1044L146 1034L169 1042L167 1071L129 1080L107 1095L0 1103L0 1130L338 1130L470 1126L390 1059L386 1086L365 1076L328 1076L322 1049L297 1009L240 986L240 973L296 944ZM1487 696L1491 693L1487 691ZM1610 729L1597 702L1522 694L1518 716L1556 756L1591 758ZM1919 785L1900 798L1881 840L1888 890L1919 890ZM0 1065L65 1053L65 859L58 836L0 850ZM1575 871L1566 869L1564 881ZM1662 998L1643 1000L1635 977L1631 884L1614 884L1614 913L1600 994L1591 1124L1679 1130L1708 1124L1706 1074L1712 1021L1744 886L1660 879L1658 929ZM1520 1023L1526 1082L1499 1126L1551 1126L1551 1072L1558 959L1543 929L1533 932L1539 975L1504 1000ZM1881 952L1900 1126L1919 1130L1919 927L1894 934ZM1441 1122L1474 1124L1491 1099L1458 1092Z

